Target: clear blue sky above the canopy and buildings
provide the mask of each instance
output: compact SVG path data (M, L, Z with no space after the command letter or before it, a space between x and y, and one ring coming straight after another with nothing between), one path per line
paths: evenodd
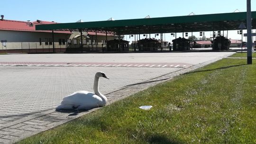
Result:
M5 19L60 23L246 11L246 0L0 0ZM256 0L251 0L256 11ZM232 32L229 35L233 35ZM206 35L207 36L207 35ZM210 34L209 34L210 36ZM207 37L209 37L207 36ZM197 36L199 37L199 36ZM239 38L235 36L234 38Z

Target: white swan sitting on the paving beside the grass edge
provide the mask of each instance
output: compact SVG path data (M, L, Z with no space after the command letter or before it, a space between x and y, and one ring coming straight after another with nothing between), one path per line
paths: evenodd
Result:
M76 91L73 94L66 96L61 102L61 105L56 109L79 110L105 106L108 99L99 91L100 77L109 79L104 72L96 72L93 85L94 93L85 90Z

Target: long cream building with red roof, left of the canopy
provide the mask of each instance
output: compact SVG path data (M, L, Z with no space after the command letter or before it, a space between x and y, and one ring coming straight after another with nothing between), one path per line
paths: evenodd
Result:
M65 52L66 48L80 47L80 32L53 31L53 37L52 31L36 30L36 25L42 24L56 24L56 22L0 19L0 53L51 53L53 45L55 52ZM86 50L102 48L106 44L105 39L106 34L103 33L97 33L96 36L95 32L82 32L82 44ZM114 39L114 36L108 34L108 40L111 39Z

